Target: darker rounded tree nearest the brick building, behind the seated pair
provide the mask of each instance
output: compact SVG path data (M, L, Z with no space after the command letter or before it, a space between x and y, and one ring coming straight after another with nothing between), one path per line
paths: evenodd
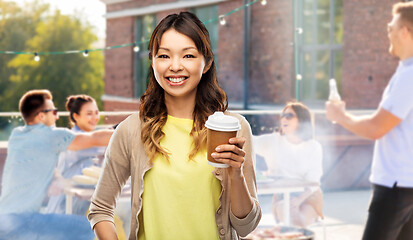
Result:
M36 34L27 41L27 51L55 52L90 49L97 40L92 28L76 17L56 11L54 15L38 24ZM85 93L99 100L103 94L103 55L91 52L86 58L80 53L40 55L40 61L33 55L19 55L9 62L8 67L16 69L10 76L11 89L5 99L16 102L27 90L46 88L52 91L59 109L64 109L66 97Z

